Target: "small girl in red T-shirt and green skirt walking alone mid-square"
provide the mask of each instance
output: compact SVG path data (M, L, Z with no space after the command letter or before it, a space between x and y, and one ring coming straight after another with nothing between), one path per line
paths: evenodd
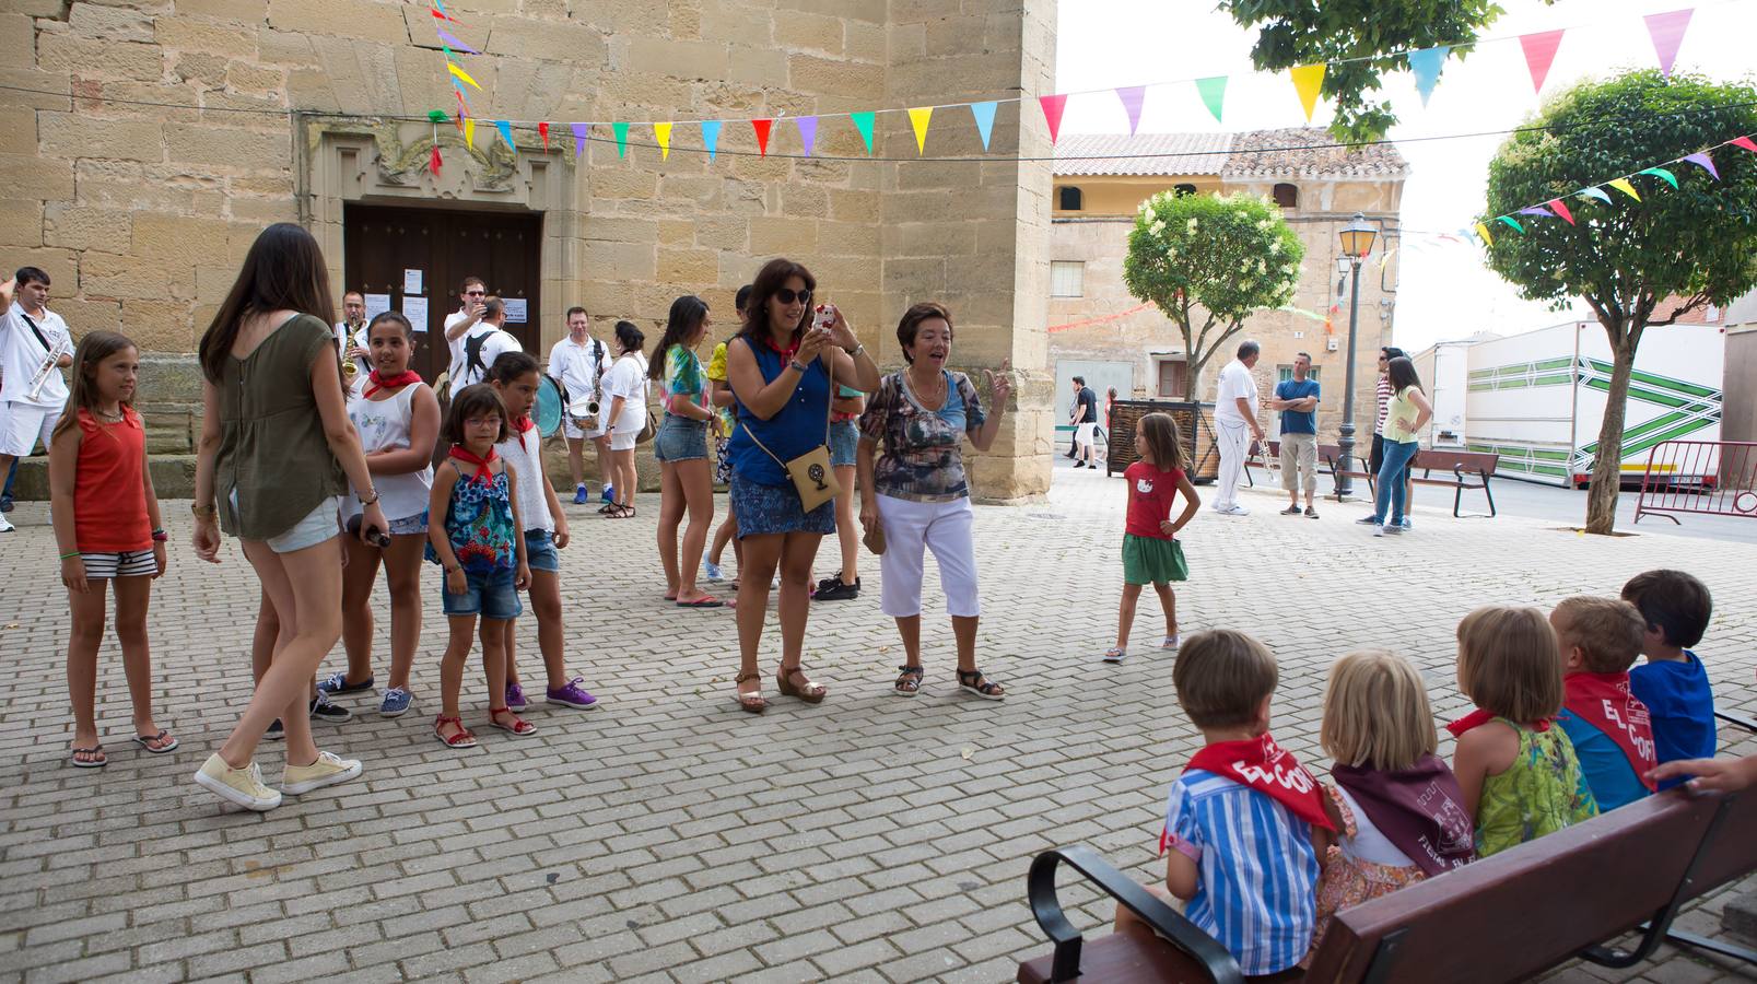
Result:
M1123 529L1123 603L1116 613L1116 645L1103 654L1105 662L1123 662L1128 655L1128 631L1135 624L1140 585L1151 583L1165 610L1165 638L1160 648L1177 648L1177 596L1170 582L1189 578L1177 531L1184 529L1202 506L1197 487L1184 474L1184 441L1177 422L1167 413L1149 413L1135 422L1135 453L1140 460L1123 471L1128 481L1128 524ZM1184 494L1184 511L1172 520L1172 504Z

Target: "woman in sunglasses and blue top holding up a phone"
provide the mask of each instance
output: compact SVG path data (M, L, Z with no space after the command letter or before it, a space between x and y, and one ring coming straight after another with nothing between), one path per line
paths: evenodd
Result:
M768 585L780 568L782 694L819 703L828 694L799 666L812 604L812 561L836 529L835 501L806 511L784 462L824 445L835 385L863 394L878 388L878 365L836 311L828 330L812 330L817 278L792 260L770 260L752 283L743 327L726 346L726 380L736 397L731 503L738 515L743 566L738 569L738 706L763 713L757 643L768 611Z

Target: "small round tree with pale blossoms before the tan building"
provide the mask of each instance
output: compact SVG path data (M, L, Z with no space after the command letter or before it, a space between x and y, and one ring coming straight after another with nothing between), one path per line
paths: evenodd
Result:
M1184 336L1189 399L1202 367L1262 308L1283 308L1300 283L1305 244L1267 199L1160 192L1135 213L1123 283Z

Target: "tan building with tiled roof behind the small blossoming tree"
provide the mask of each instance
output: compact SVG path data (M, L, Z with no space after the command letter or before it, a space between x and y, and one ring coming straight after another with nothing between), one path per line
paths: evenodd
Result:
M1246 134L1139 134L1065 137L1056 148L1051 218L1049 362L1056 376L1056 423L1070 409L1068 380L1084 374L1100 394L1123 399L1186 399L1182 336L1158 308L1123 285L1123 257L1135 209L1153 193L1263 195L1305 244L1293 311L1258 311L1202 371L1197 399L1214 399L1214 380L1244 337L1263 344L1256 376L1263 394L1293 353L1309 351L1325 383L1320 436L1335 441L1342 420L1349 279L1341 230L1363 213L1379 228L1360 271L1356 339L1356 434L1372 434L1376 360L1390 344L1397 299L1399 209L1407 165L1390 144L1346 151L1323 130ZM1316 146L1312 146L1316 144ZM1291 149L1298 148L1298 149ZM1365 413L1360 408L1365 408ZM1269 413L1265 427L1274 434Z

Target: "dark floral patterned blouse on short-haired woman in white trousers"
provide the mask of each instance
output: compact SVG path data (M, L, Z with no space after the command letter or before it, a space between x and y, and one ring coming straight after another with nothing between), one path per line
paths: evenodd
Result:
M968 376L940 373L945 376L940 409L924 408L901 371L880 380L878 392L866 401L861 438L884 445L873 462L873 487L880 496L912 503L952 503L970 496L963 439L987 416Z

